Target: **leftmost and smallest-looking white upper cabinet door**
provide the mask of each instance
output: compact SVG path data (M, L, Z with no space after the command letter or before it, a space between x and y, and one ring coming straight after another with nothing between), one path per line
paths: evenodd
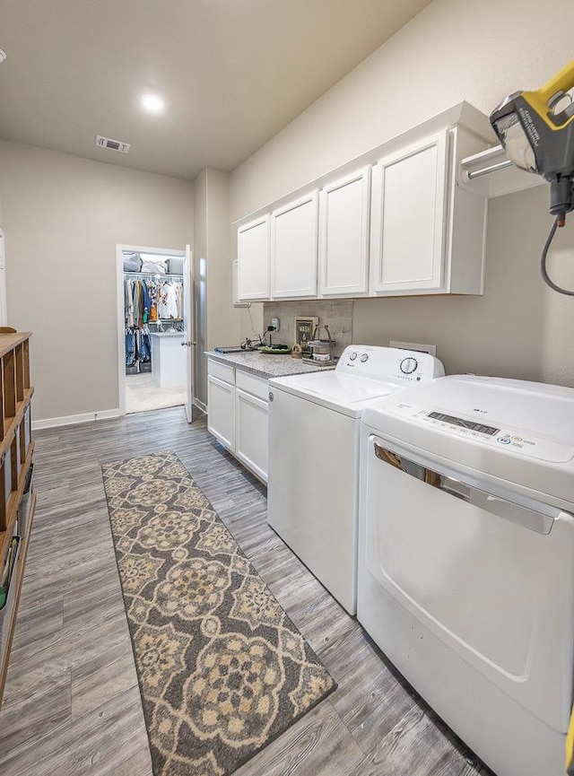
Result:
M269 216L237 231L238 301L269 299Z

